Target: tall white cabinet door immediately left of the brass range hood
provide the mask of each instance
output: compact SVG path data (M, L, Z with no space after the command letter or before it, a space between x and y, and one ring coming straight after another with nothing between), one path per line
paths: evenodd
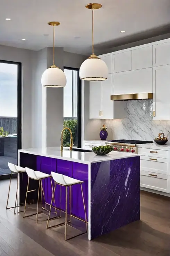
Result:
M108 75L108 79L102 82L102 118L113 118L113 101L110 100L112 90L112 74Z

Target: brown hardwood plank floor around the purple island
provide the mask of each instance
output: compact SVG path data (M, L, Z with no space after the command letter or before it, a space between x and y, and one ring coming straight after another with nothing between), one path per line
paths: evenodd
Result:
M36 224L35 216L23 218L23 213L6 210L8 185L9 180L0 181L0 256L170 256L168 197L141 191L140 221L93 241L85 234L65 242L63 227L45 229L45 215ZM15 188L13 179L11 205Z

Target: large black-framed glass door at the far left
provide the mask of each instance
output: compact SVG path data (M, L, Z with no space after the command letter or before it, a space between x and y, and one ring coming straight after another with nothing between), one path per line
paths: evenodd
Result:
M0 179L21 148L21 63L0 61Z

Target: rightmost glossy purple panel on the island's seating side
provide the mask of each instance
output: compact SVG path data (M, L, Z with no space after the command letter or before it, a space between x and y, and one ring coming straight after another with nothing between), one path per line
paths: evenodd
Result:
M86 208L86 216L88 219L88 164L73 162L73 178L84 181L82 184L83 195ZM82 199L82 191L80 184L72 187L72 207L71 213L82 219L85 219L84 205Z

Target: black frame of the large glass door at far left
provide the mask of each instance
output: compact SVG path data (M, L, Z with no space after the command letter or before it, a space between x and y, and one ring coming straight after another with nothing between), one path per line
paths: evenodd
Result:
M17 88L17 165L18 165L18 150L22 149L22 63L15 61L0 60L0 63L18 65L18 88ZM0 180L10 179L11 174L0 175ZM15 174L12 175L16 177Z

